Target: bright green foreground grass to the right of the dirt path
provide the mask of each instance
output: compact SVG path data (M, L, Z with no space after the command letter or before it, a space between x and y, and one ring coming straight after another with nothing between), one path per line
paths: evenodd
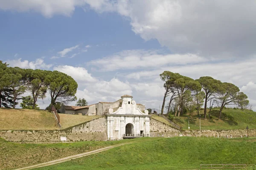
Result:
M180 170L200 164L256 164L255 139L152 139L35 170Z

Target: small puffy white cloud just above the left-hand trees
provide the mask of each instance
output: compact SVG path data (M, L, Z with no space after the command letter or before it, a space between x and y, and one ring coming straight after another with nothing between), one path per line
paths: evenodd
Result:
M52 67L52 64L46 64L44 62L44 59L36 59L35 61L29 62L28 60L21 61L21 58L19 59L13 59L13 60L7 60L7 64L9 64L11 67L20 67L20 68L31 68L31 69L49 69Z

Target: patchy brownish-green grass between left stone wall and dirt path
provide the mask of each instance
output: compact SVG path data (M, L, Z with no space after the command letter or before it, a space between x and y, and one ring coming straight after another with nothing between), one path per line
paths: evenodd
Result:
M140 141L148 140L141 138ZM29 165L72 156L96 150L113 144L133 142L122 141L84 141L56 144L17 144L0 138L0 170L27 167Z

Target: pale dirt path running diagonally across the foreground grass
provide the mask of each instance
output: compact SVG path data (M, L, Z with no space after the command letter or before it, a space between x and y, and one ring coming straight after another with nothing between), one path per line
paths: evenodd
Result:
M93 150L93 151L90 151L90 152L80 153L80 154L73 155L73 156L67 156L67 157L64 157L64 158L61 158L61 159L55 159L53 161L48 161L48 162L44 162L44 163L41 163L41 164L32 165L32 166L29 166L29 167L23 167L23 168L19 168L19 169L16 169L16 170L30 170L32 168L45 167L45 166L49 166L49 165L52 165L52 164L58 164L58 163L61 163L61 162L64 162L64 161L70 161L72 159L77 159L77 158L81 158L81 157L84 157L84 156L99 153L99 152L102 152L104 150L109 150L111 148L119 147L119 146L122 146L122 145L125 145L125 144L130 144L130 143L117 144L117 145L113 145L113 146L103 147L101 149Z

